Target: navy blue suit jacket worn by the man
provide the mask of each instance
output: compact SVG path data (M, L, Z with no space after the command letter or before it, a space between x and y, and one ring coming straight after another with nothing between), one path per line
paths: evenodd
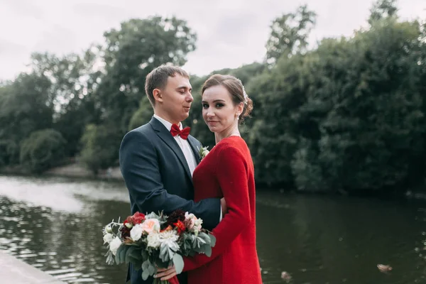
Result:
M197 147L200 141L188 136L188 143L200 163ZM220 200L217 198L194 202L194 186L185 155L175 138L154 117L148 124L126 133L120 146L121 174L129 190L131 214L175 209L194 213L203 220L205 229L219 224ZM187 283L186 273L178 275L181 284ZM131 284L153 283L153 278L143 281L141 270L129 266L127 280Z

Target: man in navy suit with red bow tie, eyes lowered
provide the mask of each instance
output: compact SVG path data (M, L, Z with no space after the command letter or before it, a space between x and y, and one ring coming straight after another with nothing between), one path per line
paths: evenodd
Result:
M205 229L212 230L226 210L224 200L192 201L192 173L200 163L197 147L200 141L182 129L180 121L187 119L193 101L190 76L180 67L162 65L146 77L145 91L154 109L148 124L133 129L124 136L120 146L121 174L129 190L131 214L175 209L194 213L203 220ZM129 266L127 281L143 281L141 270ZM178 275L180 284L187 275Z

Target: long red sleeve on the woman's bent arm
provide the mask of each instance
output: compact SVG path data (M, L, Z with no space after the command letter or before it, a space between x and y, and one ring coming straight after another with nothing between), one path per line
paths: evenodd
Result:
M196 254L193 257L184 258L183 271L198 268L222 254L251 222L246 158L234 146L225 146L218 150L216 175L226 200L228 213L212 231L212 234L216 236L216 246L212 248L212 256Z

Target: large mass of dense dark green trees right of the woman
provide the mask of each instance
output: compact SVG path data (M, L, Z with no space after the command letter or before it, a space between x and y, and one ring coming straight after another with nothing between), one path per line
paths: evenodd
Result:
M370 192L422 184L424 38L417 21L383 18L251 80L256 181Z

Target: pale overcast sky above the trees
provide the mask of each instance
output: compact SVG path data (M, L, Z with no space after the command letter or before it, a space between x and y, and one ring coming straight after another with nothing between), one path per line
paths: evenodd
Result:
M317 12L311 42L366 25L373 0L0 0L0 80L25 70L31 53L81 53L121 21L185 19L198 36L185 69L196 75L261 61L271 21L307 4ZM402 18L426 19L425 0L399 0Z

